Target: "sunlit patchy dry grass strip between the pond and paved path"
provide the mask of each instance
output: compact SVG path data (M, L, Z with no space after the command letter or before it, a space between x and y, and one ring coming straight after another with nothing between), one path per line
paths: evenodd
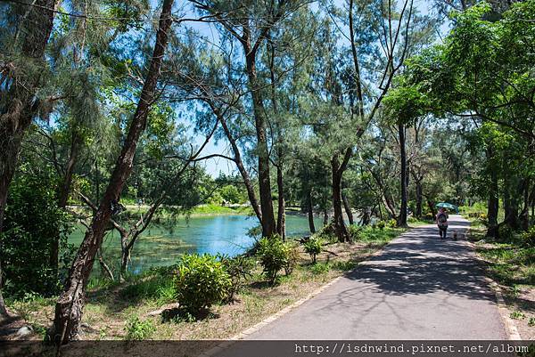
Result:
M251 327L284 307L308 296L325 283L352 270L403 230L365 229L353 244L334 243L324 247L312 264L300 248L299 264L291 275L269 286L259 264L231 304L212 306L204 320L162 319L161 311L175 303L173 267L156 268L121 284L95 281L88 289L84 322L85 339L227 339ZM15 312L24 312L42 329L53 319L55 300L12 302Z

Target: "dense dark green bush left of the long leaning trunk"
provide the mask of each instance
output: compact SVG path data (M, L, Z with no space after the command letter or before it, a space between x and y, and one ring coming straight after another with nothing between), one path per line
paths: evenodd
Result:
M20 297L35 292L53 296L70 267L67 244L71 217L57 207L58 185L50 172L29 174L22 168L10 186L4 217L3 268L5 290ZM51 265L54 239L60 240L59 275Z

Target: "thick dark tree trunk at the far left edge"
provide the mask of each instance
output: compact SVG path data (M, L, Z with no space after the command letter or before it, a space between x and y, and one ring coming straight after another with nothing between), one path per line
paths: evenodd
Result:
M2 100L0 108L0 237L4 225L4 210L9 184L17 167L21 142L37 110L36 97L45 68L43 56L53 28L55 0L36 0L30 5L27 16L21 21L21 56L29 62L29 70L19 71ZM14 44L19 45L19 44ZM2 241L0 238L0 314L7 314L2 295Z

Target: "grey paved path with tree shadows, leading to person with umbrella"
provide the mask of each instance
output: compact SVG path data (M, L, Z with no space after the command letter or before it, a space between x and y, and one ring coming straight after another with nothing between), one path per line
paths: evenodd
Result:
M450 215L449 234L467 226ZM402 234L248 339L506 339L473 251L438 237L433 225Z

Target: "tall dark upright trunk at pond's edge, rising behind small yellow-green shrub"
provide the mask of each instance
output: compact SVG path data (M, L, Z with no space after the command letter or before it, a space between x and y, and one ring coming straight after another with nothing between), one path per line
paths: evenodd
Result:
M257 155L259 156L259 193L260 209L262 211L262 237L271 237L276 233L275 215L271 195L271 181L269 178L269 150L266 135L266 110L262 100L261 85L259 85L256 72L256 52L252 51L249 28L243 28L247 34L243 46L249 85L251 86L252 110L254 112L255 128L257 134Z

